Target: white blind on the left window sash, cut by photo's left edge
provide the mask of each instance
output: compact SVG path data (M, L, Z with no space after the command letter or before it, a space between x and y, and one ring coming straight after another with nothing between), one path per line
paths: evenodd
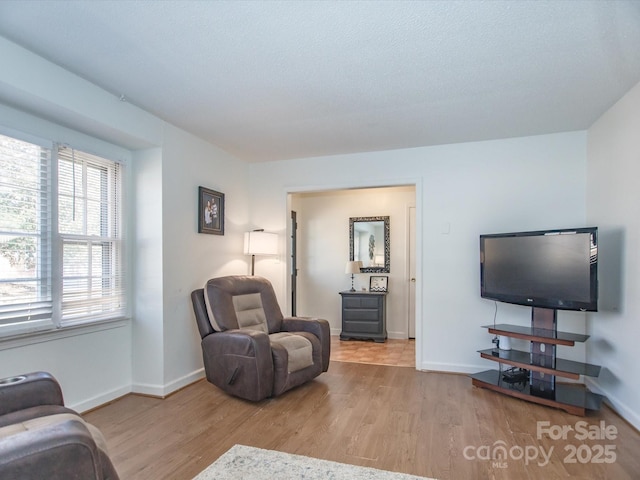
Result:
M52 327L51 150L0 135L0 333Z

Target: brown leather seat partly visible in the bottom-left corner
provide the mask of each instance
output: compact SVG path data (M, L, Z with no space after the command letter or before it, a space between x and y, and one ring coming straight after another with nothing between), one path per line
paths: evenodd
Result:
M0 478L118 480L104 437L35 372L0 379Z

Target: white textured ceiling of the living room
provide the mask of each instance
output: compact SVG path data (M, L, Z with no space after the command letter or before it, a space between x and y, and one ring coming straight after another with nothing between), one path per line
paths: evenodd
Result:
M247 161L584 130L640 81L637 0L4 0L0 35Z

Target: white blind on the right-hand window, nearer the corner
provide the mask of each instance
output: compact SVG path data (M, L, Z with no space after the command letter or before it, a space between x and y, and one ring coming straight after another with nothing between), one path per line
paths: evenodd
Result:
M119 163L58 150L60 325L125 314Z

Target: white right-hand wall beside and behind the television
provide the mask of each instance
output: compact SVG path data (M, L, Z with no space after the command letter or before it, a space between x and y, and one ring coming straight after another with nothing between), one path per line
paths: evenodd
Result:
M640 428L640 84L588 131L589 221L600 227L600 311L590 315L592 385Z

